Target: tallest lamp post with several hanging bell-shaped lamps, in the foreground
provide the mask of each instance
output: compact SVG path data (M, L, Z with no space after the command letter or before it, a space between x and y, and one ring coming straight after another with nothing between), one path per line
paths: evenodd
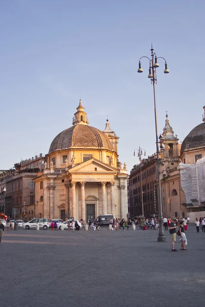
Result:
M159 146L158 146L158 127L157 127L157 108L156 108L156 92L155 92L155 84L157 84L156 78L156 69L159 67L157 59L165 60L165 70L164 73L168 74L169 70L167 68L167 61L163 57L157 57L156 53L153 52L154 49L151 47L151 59L147 56L142 56L141 58L147 58L150 61L149 66L149 75L148 78L151 79L151 84L153 85L153 92L154 92L154 116L155 116L155 133L156 133L156 153L157 153L157 177L158 177L158 207L159 207L159 234L157 241L158 242L165 242L165 233L163 231L163 217L162 217L162 205L161 205L161 183L160 183L160 160L159 160ZM139 59L139 68L137 70L138 73L142 73L143 70L141 68L141 58Z

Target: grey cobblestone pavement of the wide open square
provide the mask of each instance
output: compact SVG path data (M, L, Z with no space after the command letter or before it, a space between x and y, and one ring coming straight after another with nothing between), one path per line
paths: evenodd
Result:
M201 230L200 230L201 231ZM205 233L189 225L188 250L156 230L5 231L1 302L33 306L204 305ZM174 300L173 300L174 299Z

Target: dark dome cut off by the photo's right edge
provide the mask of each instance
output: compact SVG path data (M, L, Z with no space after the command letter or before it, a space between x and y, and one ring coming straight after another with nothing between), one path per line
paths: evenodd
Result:
M185 150L203 146L205 146L205 122L191 130L181 144L180 153L182 154Z

